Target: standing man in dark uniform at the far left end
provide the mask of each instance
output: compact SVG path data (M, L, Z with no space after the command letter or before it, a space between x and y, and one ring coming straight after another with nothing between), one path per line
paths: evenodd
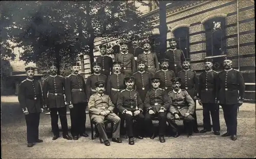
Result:
M38 127L40 112L44 111L44 107L40 83L34 80L35 69L26 67L25 70L27 79L19 85L18 101L25 114L28 147L33 147L33 143L42 142L42 140L38 139Z

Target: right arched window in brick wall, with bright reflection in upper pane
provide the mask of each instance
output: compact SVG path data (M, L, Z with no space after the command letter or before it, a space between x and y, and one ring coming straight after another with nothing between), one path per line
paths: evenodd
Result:
M206 56L223 55L226 52L225 17L214 17L204 22Z

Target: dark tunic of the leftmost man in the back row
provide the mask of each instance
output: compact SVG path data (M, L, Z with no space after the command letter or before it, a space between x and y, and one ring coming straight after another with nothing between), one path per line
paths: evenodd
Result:
M110 72L112 72L113 69L113 59L108 55L104 55L97 57L96 62L101 64L101 74L109 77Z

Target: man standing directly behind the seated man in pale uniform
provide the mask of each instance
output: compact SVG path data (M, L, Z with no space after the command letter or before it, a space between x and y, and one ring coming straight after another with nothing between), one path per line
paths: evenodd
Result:
M101 65L99 62L93 62L93 74L90 75L87 80L86 80L86 95L87 95L87 100L89 101L90 96L95 94L97 90L95 89L95 82L97 81L107 81L108 77L106 75L103 75L100 73L101 70Z

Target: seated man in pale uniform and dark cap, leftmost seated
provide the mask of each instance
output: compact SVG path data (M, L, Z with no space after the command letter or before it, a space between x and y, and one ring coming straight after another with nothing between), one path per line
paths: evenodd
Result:
M104 120L110 120L114 123L112 141L121 143L120 140L120 118L113 112L114 104L108 95L104 95L104 81L95 83L97 93L93 94L88 102L88 109L92 113L91 120L96 123L100 137L104 140L106 146L110 146L108 136L105 132Z

